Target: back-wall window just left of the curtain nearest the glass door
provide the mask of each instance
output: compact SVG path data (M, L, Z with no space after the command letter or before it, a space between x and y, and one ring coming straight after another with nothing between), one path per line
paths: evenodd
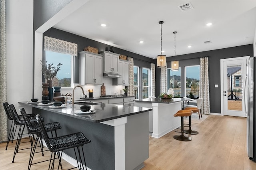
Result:
M185 67L186 73L186 96L199 97L200 87L200 65Z

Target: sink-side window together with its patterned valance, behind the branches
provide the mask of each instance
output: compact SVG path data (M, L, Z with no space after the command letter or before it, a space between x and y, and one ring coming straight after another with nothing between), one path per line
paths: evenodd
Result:
M74 79L74 56L77 56L77 44L44 36L44 51L47 64L56 67L61 63L60 70L52 81L53 86L72 87Z

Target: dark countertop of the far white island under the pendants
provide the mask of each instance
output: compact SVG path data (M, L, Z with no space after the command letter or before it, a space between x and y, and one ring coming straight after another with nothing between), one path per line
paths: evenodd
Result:
M194 100L194 99L190 99L190 98L172 98L172 99L147 98L147 99L135 99L133 101L170 104L170 103L184 102L184 101L190 101L190 100Z

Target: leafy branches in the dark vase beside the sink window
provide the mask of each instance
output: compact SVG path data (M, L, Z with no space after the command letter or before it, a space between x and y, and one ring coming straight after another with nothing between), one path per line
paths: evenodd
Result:
M58 73L58 71L60 70L60 66L62 65L61 63L58 63L57 68L54 66L52 67L53 63L47 64L47 61L43 62L41 61L41 65L42 65L42 72L44 75L44 78L46 80L52 80Z

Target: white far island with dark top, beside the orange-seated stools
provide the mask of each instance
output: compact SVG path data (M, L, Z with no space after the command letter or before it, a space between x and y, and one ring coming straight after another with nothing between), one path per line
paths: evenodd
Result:
M172 99L135 99L135 106L153 108L149 112L149 132L152 137L160 138L168 132L180 127L180 118L173 115L181 110L181 104L187 99L172 98Z

